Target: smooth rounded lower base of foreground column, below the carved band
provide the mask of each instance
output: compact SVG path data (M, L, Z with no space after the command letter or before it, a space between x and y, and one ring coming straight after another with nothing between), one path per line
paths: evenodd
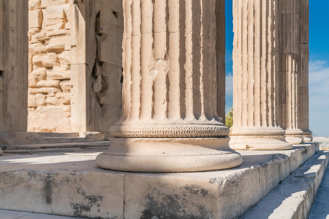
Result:
M129 172L197 172L234 168L242 157L230 138L110 138L97 166Z

